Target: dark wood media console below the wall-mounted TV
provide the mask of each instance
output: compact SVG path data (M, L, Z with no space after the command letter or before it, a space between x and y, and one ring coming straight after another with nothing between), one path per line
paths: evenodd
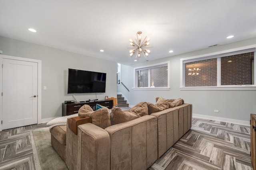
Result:
M113 100L96 100L95 102L76 102L72 104L62 103L62 116L78 113L80 107L85 104L91 106L93 110L96 110L96 104L100 104L101 106L106 106L111 109L113 107Z

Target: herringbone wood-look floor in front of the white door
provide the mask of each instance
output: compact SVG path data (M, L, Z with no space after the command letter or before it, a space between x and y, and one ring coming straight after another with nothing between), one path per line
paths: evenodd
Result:
M0 170L35 170L30 131L46 123L0 131Z

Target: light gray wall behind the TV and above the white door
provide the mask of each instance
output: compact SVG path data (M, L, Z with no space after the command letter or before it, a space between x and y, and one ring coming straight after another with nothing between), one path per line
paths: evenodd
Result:
M77 53L45 47L0 37L0 50L3 55L37 59L42 61L42 119L62 115L62 103L74 100L67 94L68 68L106 72L106 93L97 94L99 100L105 96L116 97L116 63ZM95 99L96 94L77 94L79 101Z

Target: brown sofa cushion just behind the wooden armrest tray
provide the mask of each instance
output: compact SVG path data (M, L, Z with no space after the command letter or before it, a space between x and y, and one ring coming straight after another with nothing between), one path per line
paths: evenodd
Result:
M78 115L91 117L92 124L105 129L106 127L111 126L110 114L109 114L108 110L109 109L107 109L107 108L103 108L103 109L98 109L96 111L90 111L87 113L81 113L78 111Z

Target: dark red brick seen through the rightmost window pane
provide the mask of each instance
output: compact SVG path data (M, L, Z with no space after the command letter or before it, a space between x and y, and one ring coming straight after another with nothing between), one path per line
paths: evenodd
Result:
M254 52L222 57L221 85L252 84L252 60Z

